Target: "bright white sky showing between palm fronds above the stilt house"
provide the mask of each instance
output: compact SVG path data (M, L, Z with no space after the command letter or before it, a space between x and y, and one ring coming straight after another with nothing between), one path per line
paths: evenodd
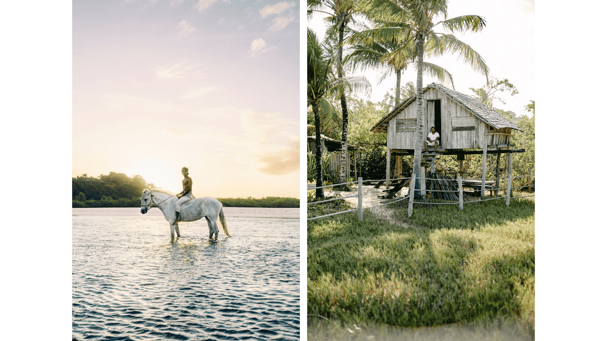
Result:
M490 75L497 79L509 79L518 89L518 94L498 94L506 104L493 103L494 107L512 110L517 115L528 114L524 106L529 100L535 100L535 1L534 0L450 0L447 18L461 15L482 16L487 26L479 33L456 33L455 36L469 44L483 56L489 66ZM322 17L315 16L308 22L308 27L316 33L324 32ZM438 32L442 32L438 30ZM447 32L446 32L447 33ZM472 68L458 61L457 55L444 55L440 58L425 58L444 67L453 75L455 90L466 95L472 95L470 87L480 88L486 78ZM381 72L369 71L358 73L371 82L373 92L368 98L371 101L382 101L386 92L396 86L396 75L385 78L378 84ZM416 82L416 69L409 67L402 73L401 85ZM424 76L424 86L438 79Z

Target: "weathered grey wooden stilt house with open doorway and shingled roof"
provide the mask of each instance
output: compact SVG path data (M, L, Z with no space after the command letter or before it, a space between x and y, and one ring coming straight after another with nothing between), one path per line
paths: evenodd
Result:
M458 160L463 161L465 154L478 154L464 149L483 149L484 154L487 151L500 152L509 148L512 130L522 130L481 101L451 90L443 84L432 83L426 86L422 93L424 140L430 132L430 127L435 127L440 135L437 150L439 154L458 155ZM396 155L397 165L402 164L399 160L402 161L403 155L413 155L417 138L415 104L414 95L399 104L371 128L372 132L387 133L386 177L388 179L390 155ZM429 148L433 149L433 147ZM428 166L430 163L432 162L424 163L422 160L422 166ZM398 169L395 175L400 175Z

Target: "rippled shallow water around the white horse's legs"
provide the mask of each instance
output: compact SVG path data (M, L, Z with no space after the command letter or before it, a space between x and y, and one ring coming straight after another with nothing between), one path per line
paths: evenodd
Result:
M299 209L225 208L228 231L160 210L72 210L73 340L299 340Z

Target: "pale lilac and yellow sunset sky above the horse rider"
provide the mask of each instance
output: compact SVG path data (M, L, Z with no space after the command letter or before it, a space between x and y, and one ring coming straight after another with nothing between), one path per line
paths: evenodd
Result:
M72 2L72 176L299 198L299 1Z

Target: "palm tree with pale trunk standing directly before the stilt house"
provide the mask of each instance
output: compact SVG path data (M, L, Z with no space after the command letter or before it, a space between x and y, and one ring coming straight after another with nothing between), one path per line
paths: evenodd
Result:
M424 141L423 123L423 64L424 52L432 55L444 53L459 53L464 62L470 64L473 70L483 73L489 82L489 67L483 58L469 45L455 38L452 34L436 32L437 27L443 27L449 32L480 32L486 25L484 18L476 15L464 15L447 19L447 0L370 0L365 11L371 18L378 18L384 24L378 29L366 33L368 39L375 41L390 41L405 39L404 46L415 42L416 47L416 113L417 129L413 157L413 172L419 179L421 173L421 146ZM443 20L435 22L436 18ZM401 49L404 49L402 47ZM384 59L405 58L399 55L397 49L384 56ZM416 183L416 188L419 184Z

